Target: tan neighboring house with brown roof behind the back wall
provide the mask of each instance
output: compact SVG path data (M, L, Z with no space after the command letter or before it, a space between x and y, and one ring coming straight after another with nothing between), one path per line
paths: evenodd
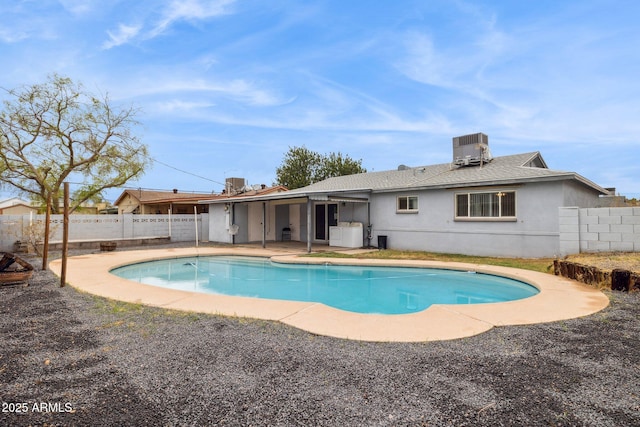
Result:
M115 201L118 214L192 214L194 207L198 213L207 211L206 205L198 201L211 199L213 194L181 193L173 191L156 191L143 189L126 189Z

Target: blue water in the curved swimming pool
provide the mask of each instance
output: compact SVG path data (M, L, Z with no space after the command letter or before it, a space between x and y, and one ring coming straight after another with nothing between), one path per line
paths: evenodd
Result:
M406 314L431 304L504 302L538 293L517 280L466 271L280 264L237 256L149 261L111 273L171 289L320 302L357 313Z

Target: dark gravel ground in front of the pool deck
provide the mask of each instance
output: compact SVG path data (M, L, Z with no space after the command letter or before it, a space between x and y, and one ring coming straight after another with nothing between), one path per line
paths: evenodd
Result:
M34 265L39 265L38 260ZM0 287L0 425L640 425L640 293L466 339L366 343Z

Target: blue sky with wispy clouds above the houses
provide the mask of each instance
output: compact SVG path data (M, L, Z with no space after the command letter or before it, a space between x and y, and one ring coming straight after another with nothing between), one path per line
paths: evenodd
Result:
M141 109L158 162L131 187L271 184L302 145L369 171L445 163L483 132L494 156L540 151L640 196L636 0L0 0L0 16L0 86L55 72Z

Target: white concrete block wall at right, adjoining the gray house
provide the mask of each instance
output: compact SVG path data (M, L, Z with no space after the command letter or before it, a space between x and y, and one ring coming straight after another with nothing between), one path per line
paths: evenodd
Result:
M560 208L560 255L640 252L640 207Z

